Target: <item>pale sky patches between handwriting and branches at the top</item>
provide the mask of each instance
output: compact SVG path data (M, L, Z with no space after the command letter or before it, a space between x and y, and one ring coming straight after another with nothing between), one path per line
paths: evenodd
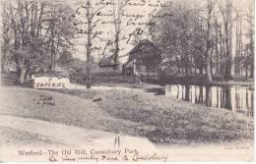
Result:
M105 0L105 1L109 1L109 0ZM131 0L131 3L141 3L142 0ZM219 0L220 2L224 2L224 0ZM66 1L67 2L67 1ZM95 0L94 0L95 2ZM174 4L186 4L186 5L196 5L196 6L204 6L206 5L207 0L146 0L146 5L144 6L129 6L127 8L125 8L125 12L128 14L143 14L145 15L145 17L143 19L140 19L139 22L147 22L150 18L148 17L148 14L155 11L155 13L157 13L160 8L158 7L149 7L149 3L152 4L158 4L158 3L164 3L164 2L173 2ZM75 8L77 8L77 3L74 3L74 1L69 1L68 3L70 3L70 5L74 6ZM233 5L235 9L238 10L248 10L249 7L253 7L254 9L254 1L253 0L233 0ZM109 10L109 8L105 8L103 11L107 11ZM110 9L111 10L111 9ZM79 16L81 18L84 17L84 15L82 14L81 16ZM105 18L104 18L105 19ZM82 19L83 20L83 19ZM108 35L106 37L111 37L111 35L113 35L113 27L112 26L98 26L98 28L103 29L104 31L108 31ZM133 31L136 27L135 26L130 26L130 27L126 27L125 28L125 32L129 33L131 31ZM86 44L86 39L84 35L80 35L82 38L81 39L77 39L75 42L77 44L75 51L74 51L74 56L78 57L82 60L86 59L86 49L85 49L85 44ZM147 38L147 35L142 36L144 38ZM101 47L104 45L104 42L97 42L95 44L99 44ZM134 45L132 44L126 44L126 42L122 42L121 43L121 48L123 48L123 50L121 51L120 55L126 54L127 52L129 52L129 50L131 50L133 48ZM95 54L95 56L97 56ZM126 59L122 59L122 61L125 61Z

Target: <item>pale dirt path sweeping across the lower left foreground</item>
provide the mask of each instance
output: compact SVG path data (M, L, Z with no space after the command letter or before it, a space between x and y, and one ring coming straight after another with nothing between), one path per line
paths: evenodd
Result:
M147 138L127 137L8 115L0 115L0 133L0 161L2 162L46 162L51 156L47 153L48 150L58 151L55 159L63 161L62 159L66 156L62 154L63 150L86 150L94 153L125 148L137 149L141 152L145 152L142 149L144 147L147 147L147 151L154 152L156 149ZM10 138L6 136L7 134L16 137ZM120 139L118 143L115 142L117 137ZM42 151L42 155L24 156L20 155L19 151ZM101 158L100 154L96 154L96 157Z

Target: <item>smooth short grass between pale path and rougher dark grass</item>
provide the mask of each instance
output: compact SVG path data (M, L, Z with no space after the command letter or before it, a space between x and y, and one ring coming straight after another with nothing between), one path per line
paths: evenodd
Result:
M87 91L86 94L80 91L76 94L81 94L85 98L49 90L2 86L0 115L32 118L114 134L139 134L136 131L140 124L114 118L99 108L92 101L93 96L96 95L95 91ZM50 100L51 103L48 101L38 103L41 102L42 97L53 98Z

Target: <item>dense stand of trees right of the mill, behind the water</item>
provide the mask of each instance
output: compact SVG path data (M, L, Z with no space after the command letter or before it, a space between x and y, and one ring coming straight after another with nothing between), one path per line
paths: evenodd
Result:
M171 0L170 0L171 1ZM203 4L205 2L205 4ZM163 51L162 68L183 75L206 74L224 80L253 78L254 5L236 9L234 0L172 3L171 17L154 20L153 40Z

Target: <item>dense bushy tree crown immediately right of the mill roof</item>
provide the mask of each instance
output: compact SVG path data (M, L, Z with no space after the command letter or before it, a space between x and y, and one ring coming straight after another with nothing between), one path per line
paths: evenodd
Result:
M170 8L170 9L169 9ZM200 9L190 6L171 6L168 9L172 16L156 20L157 26L151 27L153 40L164 52L166 65L173 66L174 70L181 69L188 74L189 68L199 69L205 65L205 35L200 20ZM197 60L201 59L201 60ZM198 68L197 68L198 67Z

